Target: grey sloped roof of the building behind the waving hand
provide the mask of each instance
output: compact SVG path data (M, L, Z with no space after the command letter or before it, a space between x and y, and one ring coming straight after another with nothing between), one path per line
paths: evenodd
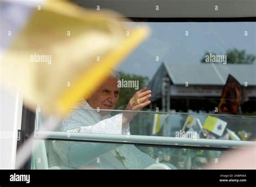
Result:
M214 64L214 63L166 63L163 62L154 74L148 87L156 95L161 94L162 80L169 76L174 85L225 85L228 74L243 85L256 86L255 64ZM156 96L155 95L155 96Z

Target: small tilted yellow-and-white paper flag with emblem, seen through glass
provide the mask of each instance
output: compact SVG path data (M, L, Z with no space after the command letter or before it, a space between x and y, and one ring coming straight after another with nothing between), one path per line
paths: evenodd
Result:
M227 126L226 121L223 121L221 119L218 119L218 118L215 118L212 116L208 116L203 125L203 127L206 130L208 130L214 134L217 134L218 136L223 135L223 132L224 132L226 126Z

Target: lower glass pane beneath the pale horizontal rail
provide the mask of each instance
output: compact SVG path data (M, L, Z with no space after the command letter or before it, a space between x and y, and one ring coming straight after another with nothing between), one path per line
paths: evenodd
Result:
M122 143L35 140L31 169L201 169L228 151ZM34 145L35 146L35 145ZM159 164L158 163L163 163Z

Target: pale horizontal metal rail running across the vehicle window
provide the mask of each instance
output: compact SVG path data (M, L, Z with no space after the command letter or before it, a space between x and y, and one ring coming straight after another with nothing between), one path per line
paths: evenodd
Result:
M35 140L59 140L59 141L80 141L100 143L122 143L147 146L167 146L203 149L233 149L256 146L254 141L237 140L215 140L215 139L192 139L162 136L145 135L116 135L116 134L93 134L93 133L68 133L37 131Z

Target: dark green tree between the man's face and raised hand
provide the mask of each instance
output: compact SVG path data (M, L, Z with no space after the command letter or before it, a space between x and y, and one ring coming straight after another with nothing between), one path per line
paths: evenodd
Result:
M145 87L149 82L149 77L139 76L135 74L127 74L122 71L119 71L118 73L120 75L120 80L123 79L124 81L139 81L139 89ZM138 90L135 90L134 88L121 88L116 109L124 110L131 97Z

